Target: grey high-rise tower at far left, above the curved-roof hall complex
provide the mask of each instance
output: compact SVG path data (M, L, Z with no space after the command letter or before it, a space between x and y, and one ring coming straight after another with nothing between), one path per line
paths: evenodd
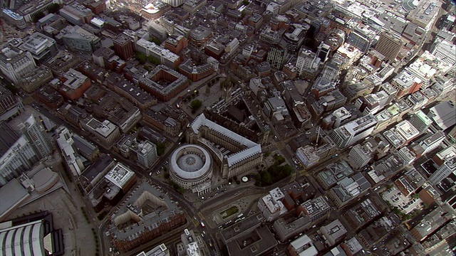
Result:
M51 138L48 136L48 134L46 134L46 130L44 129L43 125L41 125L39 122L36 122L36 119L33 117L33 115L28 117L25 122L19 124L19 129L21 129L21 132L28 139L28 141L33 144L34 148L36 149L36 154L38 154L40 158L51 153L53 149Z

